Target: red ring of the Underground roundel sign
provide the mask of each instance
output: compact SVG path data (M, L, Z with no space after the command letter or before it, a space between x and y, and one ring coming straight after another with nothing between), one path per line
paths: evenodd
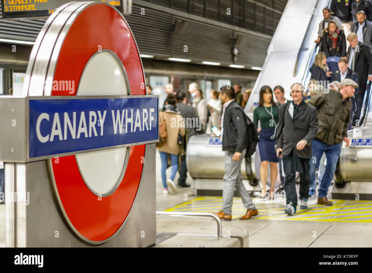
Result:
M99 45L116 53L122 61L131 95L145 95L145 89L141 89L144 72L132 32L124 17L108 4L92 4L73 21L62 43L53 80L79 83L84 67ZM76 95L76 90L74 94L52 91L52 95ZM80 239L102 244L121 228L137 194L144 154L145 144L130 148L127 171L120 185L102 200L84 183L74 155L60 157L58 163L50 159L49 172L62 215Z

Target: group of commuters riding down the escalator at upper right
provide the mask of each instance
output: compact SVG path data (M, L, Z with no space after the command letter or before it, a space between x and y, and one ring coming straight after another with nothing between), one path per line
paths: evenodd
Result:
M359 88L352 98L349 129L359 126L367 82L372 81L372 3L370 0L333 0L319 23L320 52L311 77L327 88L331 81L350 78Z

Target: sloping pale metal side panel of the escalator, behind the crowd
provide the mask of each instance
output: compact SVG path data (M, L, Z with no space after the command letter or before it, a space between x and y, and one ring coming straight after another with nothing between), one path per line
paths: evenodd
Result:
M263 85L281 85L290 99L290 87L301 83L305 87L310 81L310 66L319 51L314 40L318 38L318 27L323 20L323 9L329 7L331 0L289 0L273 39L252 94L244 108L253 118L254 104L259 101Z

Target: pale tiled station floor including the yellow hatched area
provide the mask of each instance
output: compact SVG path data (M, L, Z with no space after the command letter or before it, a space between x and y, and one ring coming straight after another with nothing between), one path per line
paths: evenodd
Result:
M210 212L221 209L220 196L195 196L190 188L179 188L176 194L163 195L158 153L156 172L158 211ZM167 177L169 175L170 169L167 170ZM187 183L191 183L191 178ZM332 186L328 197L331 196ZM296 215L288 216L284 214L284 196L277 196L275 201L253 199L259 215L250 220L240 220L238 217L246 210L240 198L234 198L232 221L222 221L222 226L228 224L245 228L249 233L249 247L372 247L372 201L331 201L331 206L317 205L317 196L314 196L309 198L307 210L298 209ZM165 218L158 216L157 220ZM171 218L178 220L178 217ZM179 218L179 221L194 223L195 220L213 221L208 218ZM179 232L182 233L182 230Z

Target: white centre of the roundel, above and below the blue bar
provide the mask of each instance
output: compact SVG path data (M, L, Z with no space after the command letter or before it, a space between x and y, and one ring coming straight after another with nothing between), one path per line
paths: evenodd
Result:
M93 55L81 75L76 95L128 95L124 66L118 62L120 59L108 51ZM76 155L81 176L94 194L107 194L115 187L123 175L126 149Z

